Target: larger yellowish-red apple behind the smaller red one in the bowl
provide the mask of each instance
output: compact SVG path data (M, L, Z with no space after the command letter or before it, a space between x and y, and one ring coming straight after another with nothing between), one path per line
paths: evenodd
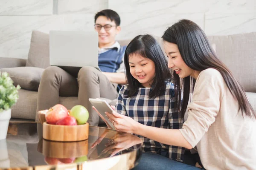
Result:
M58 104L47 111L45 119L49 124L55 125L58 120L66 116L68 116L67 108L65 108L63 105Z

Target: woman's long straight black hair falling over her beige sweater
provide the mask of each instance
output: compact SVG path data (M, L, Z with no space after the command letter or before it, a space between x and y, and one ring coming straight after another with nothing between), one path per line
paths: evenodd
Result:
M180 20L167 28L162 38L166 42L177 44L181 57L189 68L196 71L203 71L207 68L218 70L224 78L229 91L237 100L239 111L241 109L243 116L256 119L256 113L253 111L242 86L224 63L216 57L207 36L196 23L190 20ZM181 112L184 115L189 102L189 95L190 93L193 94L195 79L190 76L180 79L173 72L173 83L175 84L175 107L181 107ZM180 101L181 89L183 90L182 103Z

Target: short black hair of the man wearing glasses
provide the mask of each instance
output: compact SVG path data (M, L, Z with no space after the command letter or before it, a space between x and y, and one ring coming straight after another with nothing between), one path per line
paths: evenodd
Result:
M104 9L102 11L99 11L94 17L94 23L96 23L96 20L99 16L105 16L108 18L108 20L114 21L116 23L116 26L120 26L121 20L116 11L113 11L111 9Z

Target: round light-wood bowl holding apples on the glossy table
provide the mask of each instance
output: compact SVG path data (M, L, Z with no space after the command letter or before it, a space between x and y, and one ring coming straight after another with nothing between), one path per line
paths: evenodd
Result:
M84 125L50 125L43 123L43 138L50 141L75 142L88 139L89 123Z

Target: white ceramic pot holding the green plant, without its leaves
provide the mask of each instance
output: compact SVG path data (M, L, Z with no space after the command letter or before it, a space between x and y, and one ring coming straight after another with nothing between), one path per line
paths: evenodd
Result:
M11 119L11 109L0 112L0 140L6 139L9 120Z

